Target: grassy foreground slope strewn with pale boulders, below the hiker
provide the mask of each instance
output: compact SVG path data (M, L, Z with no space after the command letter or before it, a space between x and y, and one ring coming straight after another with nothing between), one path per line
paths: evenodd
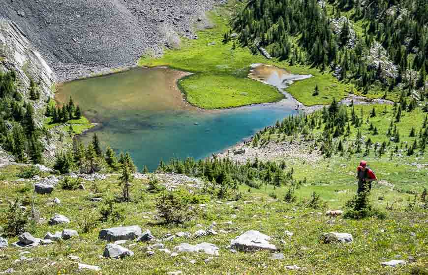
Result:
M342 220L333 219L333 222L324 213L328 209L343 209L345 202L350 199L356 190L353 175L347 174L352 170L355 160L344 161L348 165L347 169L339 169L338 162L330 162L327 165L319 165L311 168L307 173L307 182L296 190L296 203L285 203L282 201L288 186L273 188L272 186L261 189L241 186L244 198L233 203L233 206L218 204L214 196L204 210L199 210L195 206L196 219L182 226L168 226L153 224L155 212L155 201L158 194L145 192L147 180L135 180L132 186L132 195L135 199L132 203L120 203L126 213L125 220L117 223L111 221L102 222L95 229L88 233L81 231L79 220L82 219L82 210L93 209L99 211L101 203L94 203L89 200L92 196L91 183L85 183L86 191L65 191L56 189L52 195L38 195L35 197L35 205L39 208L41 217L49 220L56 213L63 214L71 219L67 225L50 226L46 222L41 222L31 228L31 233L36 237L42 237L47 231L61 231L63 228L73 228L79 231L79 237L68 241L63 241L47 247L36 247L29 249L30 254L26 257L34 258L33 261L21 261L13 263L19 259L21 249L9 247L1 250L5 255L0 261L0 270L12 267L20 274L99 274L98 272L78 271L76 262L67 259L72 254L79 256L80 262L97 265L102 268L102 274L166 274L171 271L182 271L183 274L295 274L288 271L285 266L297 265L305 268L304 274L409 274L414 268L426 268L428 264L426 240L428 227L425 220L428 213L418 208L414 211L406 211L408 199L411 195L400 193L382 185L374 185L371 202L375 207L387 213L386 220L366 219L366 220ZM305 169L295 169L296 176L300 177L299 171ZM2 168L0 172L8 171ZM396 187L406 184L407 175L413 170L399 169L397 172L400 179L395 182ZM16 177L6 172L7 181L0 183L3 201L0 204L0 213L7 207L7 199L14 197L31 197L31 193L19 192L25 183L13 182ZM378 173L379 174L379 173ZM328 175L331 182L319 181L321 177ZM336 178L336 176L341 177ZM120 193L117 176L112 176L99 183L102 195L107 192ZM422 182L422 186L427 187L427 182ZM248 192L248 190L250 192ZM307 208L305 201L310 197L311 192L317 192L321 197L321 206L317 209ZM268 194L275 193L277 199L272 199ZM378 200L378 197L384 197ZM49 206L46 203L48 198L58 197L61 204ZM29 199L27 199L29 201ZM244 203L251 201L251 203ZM385 210L386 203L395 201L394 210ZM30 206L30 205L28 205ZM321 214L318 214L321 213ZM236 215L233 218L232 215ZM292 218L290 218L292 217ZM232 220L233 224L225 224ZM105 246L104 241L98 240L98 232L103 228L122 225L139 225L144 229L149 228L156 238L162 238L167 233L175 234L179 231L194 233L200 228L196 224L208 227L213 221L217 223L214 230L220 229L226 233L219 233L215 236L206 236L198 239L176 238L172 241L162 241L166 248L173 248L180 243L198 244L208 242L220 247L218 257L204 253L181 253L177 257L170 257L168 254L154 250L153 256L147 255L147 247L150 244L138 243L130 246L134 241L127 242L124 247L128 247L135 254L122 260L108 260L98 258L102 255ZM3 225L4 220L0 220ZM270 252L254 253L231 253L228 251L230 240L247 230L259 230L271 237L271 243L275 244L278 250L285 255L281 261L271 260ZM294 232L294 236L288 238L284 231ZM347 232L354 237L354 242L346 245L325 245L319 242L319 237L325 232ZM415 236L411 236L411 232ZM8 238L9 243L17 241L17 238ZM281 239L284 243L281 243ZM413 256L417 259L415 263L396 269L385 268L380 265L381 261L394 259L399 255L402 259ZM182 258L185 256L186 258ZM62 259L62 260L60 260ZM189 260L196 260L195 264ZM208 263L204 261L209 259ZM42 269L48 263L56 262L53 266Z

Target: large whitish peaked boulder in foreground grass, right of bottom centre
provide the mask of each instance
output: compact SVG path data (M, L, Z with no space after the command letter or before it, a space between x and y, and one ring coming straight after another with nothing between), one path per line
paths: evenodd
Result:
M268 235L250 230L231 240L230 246L231 248L246 252L258 250L276 251L275 245L270 244L269 240L271 240L271 237Z

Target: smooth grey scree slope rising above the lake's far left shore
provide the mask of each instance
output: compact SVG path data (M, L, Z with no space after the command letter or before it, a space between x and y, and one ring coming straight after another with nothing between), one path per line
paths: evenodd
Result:
M195 38L185 30L198 17L203 25L204 12L218 2L0 0L0 17L15 21L64 80L90 75L90 69L132 66L146 50L159 55L173 33Z

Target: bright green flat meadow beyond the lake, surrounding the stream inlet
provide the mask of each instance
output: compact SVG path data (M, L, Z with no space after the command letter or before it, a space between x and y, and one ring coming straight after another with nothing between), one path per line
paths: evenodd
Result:
M187 100L200 108L217 109L237 107L254 103L274 102L282 95L272 87L247 79L249 65L266 63L285 68L295 74L312 74L308 80L294 83L287 90L304 105L327 104L333 97L341 99L351 90L351 84L338 82L331 74L322 74L309 66L289 66L287 62L266 59L261 55L252 55L247 48L236 47L233 42L224 45L223 34L228 31L228 15L235 1L226 6L217 7L209 13L214 27L197 32L198 39L182 38L180 49L165 50L160 58L150 55L141 57L140 66L161 66L193 72L196 75L180 81ZM208 45L215 42L215 45ZM315 84L318 83L320 95L312 97ZM237 96L242 92L245 96Z

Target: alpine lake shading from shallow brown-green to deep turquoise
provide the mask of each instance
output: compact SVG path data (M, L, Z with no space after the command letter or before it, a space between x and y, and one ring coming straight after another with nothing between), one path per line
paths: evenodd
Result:
M138 68L122 73L63 83L56 99L71 96L98 126L105 147L129 152L142 169L155 169L172 157L201 159L218 153L295 112L286 100L229 110L198 110L183 101L176 86L185 73L169 68Z

